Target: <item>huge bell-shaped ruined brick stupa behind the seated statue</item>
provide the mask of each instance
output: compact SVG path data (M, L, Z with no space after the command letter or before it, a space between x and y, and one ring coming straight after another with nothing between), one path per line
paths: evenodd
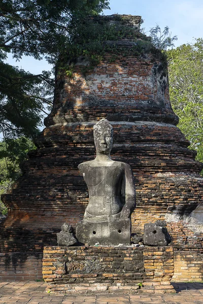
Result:
M116 55L106 52L85 73L87 60L70 58L66 64L74 66L73 74L64 69L56 73L53 109L36 142L38 149L29 153L22 176L3 196L9 211L1 227L1 252L9 265L9 254L15 252L17 259L22 252L24 260L28 255L40 259L44 245L56 245L63 222L75 226L83 219L88 191L78 164L94 157L93 125L101 118L114 129L112 159L128 163L134 172L132 233L142 236L145 223L166 218L173 246L202 247L202 164L176 126L165 60L151 51L150 39L139 31L141 17L112 15L92 21L118 24L126 17L133 37L106 42L114 45Z

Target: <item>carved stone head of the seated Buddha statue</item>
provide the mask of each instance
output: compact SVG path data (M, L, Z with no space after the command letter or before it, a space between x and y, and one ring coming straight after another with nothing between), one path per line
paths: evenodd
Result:
M101 119L93 127L96 152L108 155L113 144L113 127L107 119Z

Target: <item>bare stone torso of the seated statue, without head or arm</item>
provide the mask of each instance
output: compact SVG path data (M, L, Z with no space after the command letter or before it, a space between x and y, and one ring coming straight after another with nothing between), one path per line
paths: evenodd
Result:
M91 166L93 165L93 166ZM116 215L123 207L122 179L124 168L120 162L96 166L95 163L80 164L80 171L89 190L86 215Z

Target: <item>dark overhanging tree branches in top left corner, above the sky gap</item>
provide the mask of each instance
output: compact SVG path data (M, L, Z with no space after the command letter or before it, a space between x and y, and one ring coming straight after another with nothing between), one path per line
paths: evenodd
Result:
M7 0L0 2L0 47L55 63L75 24L108 8L107 0Z

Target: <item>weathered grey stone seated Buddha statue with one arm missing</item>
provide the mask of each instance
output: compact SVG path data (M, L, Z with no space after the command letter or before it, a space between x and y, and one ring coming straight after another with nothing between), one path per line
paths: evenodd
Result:
M106 119L93 127L96 158L78 166L88 186L89 203L76 237L89 245L130 245L130 216L136 207L133 173L110 157L113 128Z

